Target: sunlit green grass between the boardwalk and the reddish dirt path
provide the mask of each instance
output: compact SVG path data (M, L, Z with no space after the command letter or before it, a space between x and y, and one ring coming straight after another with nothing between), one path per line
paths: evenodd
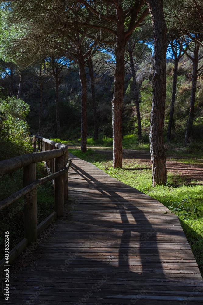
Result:
M191 214L187 217L188 219L183 220L183 216L179 215L179 219L203 276L203 185L199 184L199 181L191 180L189 185L184 185L184 177L168 172L167 185L157 185L153 188L151 182L152 169L146 163L136 159L123 159L123 168L113 169L112 160L109 160L108 155L94 153L93 149L87 149L86 153L81 153L79 149L69 149L69 151L75 156L93 163L110 176L159 200L166 207L189 196L191 201L184 203L184 206L186 208L193 208L193 206L198 208L199 217ZM201 160L191 158L174 159L174 161L188 164L192 161L197 166L198 163L202 163Z

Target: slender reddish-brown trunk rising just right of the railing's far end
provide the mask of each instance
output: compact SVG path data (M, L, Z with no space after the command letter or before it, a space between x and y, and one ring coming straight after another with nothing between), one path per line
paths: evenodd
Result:
M79 76L81 83L81 152L87 151L87 84L85 75L85 62L79 60Z

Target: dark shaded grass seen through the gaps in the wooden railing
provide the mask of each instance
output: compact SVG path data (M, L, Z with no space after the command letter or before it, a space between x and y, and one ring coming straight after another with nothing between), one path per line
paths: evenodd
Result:
M37 179L46 176L43 162L36 163ZM23 188L23 169L0 178L0 200ZM51 181L37 188L37 224L54 211L54 189ZM9 246L13 249L24 238L23 199L0 211L0 260L3 258L4 232L9 231Z

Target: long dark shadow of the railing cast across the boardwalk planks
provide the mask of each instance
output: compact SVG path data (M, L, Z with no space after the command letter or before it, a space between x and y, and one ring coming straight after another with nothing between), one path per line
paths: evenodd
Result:
M159 251L157 248L157 239L156 239L156 229L153 228L151 223L145 217L142 210L138 209L131 201L124 199L122 196L117 194L117 191L120 190L116 185L110 185L109 187L106 184L101 183L99 180L95 179L93 176L88 174L86 171L82 170L75 164L72 164L72 168L77 172L77 174L82 175L82 177L91 184L91 181L94 182L95 188L104 196L110 199L110 201L117 206L117 213L120 214L122 224L117 224L117 228L123 230L121 237L120 249L119 249L119 266L129 270L129 254L130 249L130 239L131 232L139 233L139 255L142 261L142 271L149 269L146 259L146 253L150 252L150 256L156 257L156 267L159 269L160 273L164 277L164 272L162 269L162 264L159 260ZM135 193L143 194L142 192L132 188ZM105 191L104 191L105 190ZM126 192L126 190L125 190ZM127 190L129 192L129 189ZM135 224L130 224L126 211L129 211L134 218ZM102 226L102 224L100 224ZM113 228L113 223L111 221L105 221L103 226L108 226L108 228ZM123 247L125 245L125 247ZM152 246L153 249L148 251L147 246ZM127 247L127 249L126 249ZM123 261L124 260L124 261ZM121 265L122 261L122 265Z

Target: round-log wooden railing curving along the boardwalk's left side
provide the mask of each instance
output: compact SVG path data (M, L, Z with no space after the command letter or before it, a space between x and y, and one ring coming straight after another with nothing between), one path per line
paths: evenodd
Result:
M68 199L68 146L56 143L39 136L33 138L33 153L0 161L0 175L11 173L23 167L23 189L0 202L0 210L9 206L24 196L24 225L25 238L9 253L9 263L12 263L20 253L31 243L36 242L37 236L56 218L64 213L64 199ZM38 152L36 152L38 139ZM35 163L44 161L48 176L36 180ZM39 185L54 181L54 212L37 226L37 191ZM4 259L0 262L0 270Z

